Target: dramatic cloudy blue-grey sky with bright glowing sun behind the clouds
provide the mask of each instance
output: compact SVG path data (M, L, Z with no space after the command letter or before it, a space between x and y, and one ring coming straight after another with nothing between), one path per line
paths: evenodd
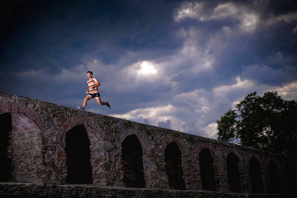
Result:
M297 99L296 1L1 3L0 91L217 138L250 92Z

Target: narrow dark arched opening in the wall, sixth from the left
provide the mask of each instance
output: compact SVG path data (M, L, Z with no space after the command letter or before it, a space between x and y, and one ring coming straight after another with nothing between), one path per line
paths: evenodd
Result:
M235 153L231 152L226 158L228 186L231 192L240 192L240 178L238 160Z

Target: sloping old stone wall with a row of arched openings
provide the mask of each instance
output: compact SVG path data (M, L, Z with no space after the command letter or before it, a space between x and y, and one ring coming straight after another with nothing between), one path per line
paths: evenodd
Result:
M2 92L0 123L0 165L8 171L1 181L224 193L296 189L296 158L157 126Z

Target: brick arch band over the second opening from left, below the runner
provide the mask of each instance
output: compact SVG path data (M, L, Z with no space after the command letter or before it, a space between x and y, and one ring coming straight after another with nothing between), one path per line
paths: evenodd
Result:
M98 134L102 139L104 139L105 138L104 131L101 129L101 127L99 127L99 129L98 127L95 127L92 124L92 121L93 120L90 118L73 116L70 119L68 119L66 122L64 122L64 124L60 127L59 130L63 133L66 133L74 126L84 125L88 131L88 135L90 136L90 138L95 138L96 134Z

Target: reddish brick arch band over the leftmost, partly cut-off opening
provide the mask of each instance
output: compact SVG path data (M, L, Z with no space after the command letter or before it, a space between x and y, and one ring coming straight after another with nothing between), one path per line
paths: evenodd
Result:
M2 113L19 113L33 121L41 131L43 130L43 121L39 118L39 116L37 116L36 113L23 105L9 102L2 103L0 104L0 114Z

